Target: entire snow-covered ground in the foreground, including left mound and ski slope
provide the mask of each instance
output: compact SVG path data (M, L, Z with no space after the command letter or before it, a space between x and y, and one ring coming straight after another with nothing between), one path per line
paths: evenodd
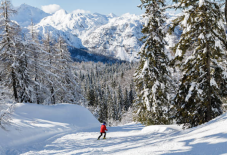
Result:
M227 113L188 130L136 123L107 127L106 140L97 140L99 122L77 105L17 104L12 122L10 131L0 129L0 154L227 155Z

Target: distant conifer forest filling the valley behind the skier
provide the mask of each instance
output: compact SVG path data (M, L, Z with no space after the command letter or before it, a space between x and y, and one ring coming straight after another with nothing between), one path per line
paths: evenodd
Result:
M100 122L106 121L109 125L120 122L132 107L136 95L131 80L136 63L83 63L87 65L78 74L92 113ZM77 66L81 65L78 63Z

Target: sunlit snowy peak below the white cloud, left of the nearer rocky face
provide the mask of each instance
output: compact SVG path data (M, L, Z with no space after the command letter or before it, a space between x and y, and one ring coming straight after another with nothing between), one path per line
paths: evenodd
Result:
M86 48L81 40L114 17L113 14L105 16L98 13L67 13L65 10L59 10L53 15L43 18L36 28L40 35L49 31L54 38L59 35L63 36L71 46Z

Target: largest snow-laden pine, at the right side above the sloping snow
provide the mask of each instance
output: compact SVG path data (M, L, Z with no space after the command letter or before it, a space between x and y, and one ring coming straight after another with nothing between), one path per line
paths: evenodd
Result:
M226 73L222 66L226 50L224 19L220 5L211 0L179 1L184 15L173 22L183 33L176 44L175 64L183 73L174 98L176 120L194 127L222 113L221 94L226 92ZM185 59L185 56L188 57ZM225 83L225 84L224 84Z

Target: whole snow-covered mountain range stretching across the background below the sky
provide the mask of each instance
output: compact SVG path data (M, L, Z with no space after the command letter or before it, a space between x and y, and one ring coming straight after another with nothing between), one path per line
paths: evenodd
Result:
M67 13L65 10L50 15L26 4L17 10L18 15L13 19L26 27L32 16L40 36L48 31L54 39L61 35L75 48L126 61L138 60L137 53L142 45L139 39L143 36L141 30L145 23L142 15L124 14L118 17L114 14ZM175 35L167 36L170 44L175 38Z

